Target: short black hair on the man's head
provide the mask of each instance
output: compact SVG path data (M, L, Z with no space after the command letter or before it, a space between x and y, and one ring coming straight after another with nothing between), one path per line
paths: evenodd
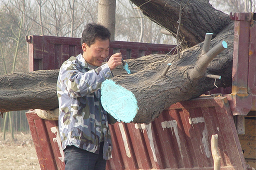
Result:
M89 23L83 31L81 45L86 43L90 47L91 44L94 44L96 38L110 40L110 35L110 31L106 27L96 23Z

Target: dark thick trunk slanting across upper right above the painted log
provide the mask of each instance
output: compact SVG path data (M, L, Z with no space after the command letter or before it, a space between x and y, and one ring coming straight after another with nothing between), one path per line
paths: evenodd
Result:
M130 0L143 14L161 25L176 37L180 5L182 6L179 42L182 47L192 47L204 41L207 32L213 38L230 24L229 16L214 9L209 0Z

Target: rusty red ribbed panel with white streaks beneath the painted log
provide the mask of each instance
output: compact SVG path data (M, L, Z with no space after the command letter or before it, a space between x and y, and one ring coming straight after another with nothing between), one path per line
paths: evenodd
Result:
M226 97L173 104L149 125L112 125L109 170L212 169L211 135L218 134L221 169L246 169Z

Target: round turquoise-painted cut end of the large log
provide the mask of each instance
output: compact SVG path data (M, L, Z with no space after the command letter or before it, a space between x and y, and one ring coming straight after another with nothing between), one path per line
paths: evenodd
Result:
M117 85L113 80L105 80L101 85L102 107L118 121L130 123L139 108L134 94Z

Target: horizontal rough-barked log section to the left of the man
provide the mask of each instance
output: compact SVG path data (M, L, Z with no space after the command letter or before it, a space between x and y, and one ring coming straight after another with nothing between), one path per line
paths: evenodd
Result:
M0 76L0 112L58 107L58 70Z

